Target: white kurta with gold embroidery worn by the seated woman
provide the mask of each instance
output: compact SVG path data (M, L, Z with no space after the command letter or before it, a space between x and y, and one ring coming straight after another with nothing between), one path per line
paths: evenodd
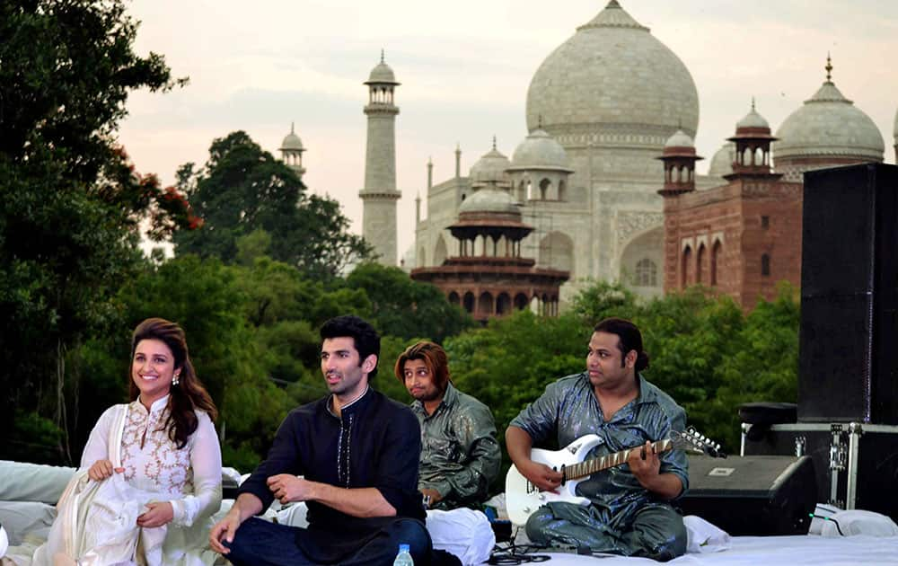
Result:
M216 429L203 411L197 411L197 429L180 450L164 430L168 396L147 411L138 401L128 404L121 440L124 476L130 485L159 494L172 503L174 517L163 544L165 564L209 564L207 552L210 517L221 506L222 459ZM103 412L84 447L81 468L110 457L110 427L115 407Z

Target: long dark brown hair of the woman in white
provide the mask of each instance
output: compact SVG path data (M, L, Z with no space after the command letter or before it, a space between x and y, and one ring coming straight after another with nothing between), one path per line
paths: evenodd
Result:
M199 382L190 355L187 349L187 339L184 331L176 323L170 323L162 318L148 318L143 323L137 324L134 335L131 337L131 364L128 364L128 382L131 384L131 401L136 400L140 394L134 383L131 368L134 360L134 351L140 340L161 340L174 356L174 367L177 372L180 368L178 385L172 385L169 395L169 416L163 425L168 430L169 438L179 449L187 445L187 439L197 429L196 409L206 411L209 418L216 420L218 410L212 402L206 388Z

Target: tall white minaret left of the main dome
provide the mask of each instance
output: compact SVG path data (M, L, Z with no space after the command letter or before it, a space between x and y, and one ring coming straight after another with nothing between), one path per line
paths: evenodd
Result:
M393 89L399 85L392 69L383 62L374 67L368 80L368 138L365 148L365 188L362 199L362 236L374 246L377 261L396 265L396 115Z

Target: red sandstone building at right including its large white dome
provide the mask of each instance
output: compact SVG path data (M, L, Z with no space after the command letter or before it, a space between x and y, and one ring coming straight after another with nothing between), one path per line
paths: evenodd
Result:
M801 285L803 173L883 161L879 130L832 83L828 57L825 68L826 81L777 137L752 103L729 138L732 146L712 160L710 174L721 175L724 185L695 190L701 157L691 138L678 131L668 139L658 190L665 199L665 293L700 284L750 309L776 296L779 281ZM724 172L721 158L731 162Z

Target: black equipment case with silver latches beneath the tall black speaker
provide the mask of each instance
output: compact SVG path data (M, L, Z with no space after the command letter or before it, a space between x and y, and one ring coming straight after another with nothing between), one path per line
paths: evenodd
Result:
M876 511L898 521L898 426L795 423L749 427L762 425L743 425L743 454L801 453L814 460L818 502L840 509Z

